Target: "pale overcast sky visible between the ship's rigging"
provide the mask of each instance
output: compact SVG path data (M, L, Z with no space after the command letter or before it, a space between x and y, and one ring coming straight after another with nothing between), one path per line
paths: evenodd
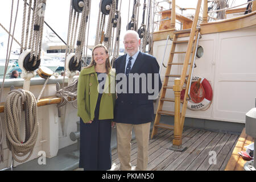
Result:
M16 2L18 0L14 0L14 11L16 11ZM10 24L10 13L11 13L11 0L0 0L0 23L3 24L9 30ZM18 11L18 19L15 28L15 38L20 42L21 36L21 27L22 27L22 14L23 14L23 1L19 0L19 11ZM121 5L121 17L122 17L122 28L121 28L121 41L123 32L126 31L126 25L128 20L128 12L129 12L129 0L119 0L119 3L122 2ZM143 0L141 2L141 9L143 7ZM148 2L148 0L146 1ZM230 0L232 2L232 0ZM247 0L237 0L236 4L245 3ZM92 7L90 11L90 30L89 30L89 45L94 45L94 38L96 34L96 27L97 27L97 19L98 19L98 10L99 10L99 3L100 0L92 0ZM176 5L180 7L196 7L196 0L176 0ZM65 41L67 40L67 30L68 30L68 18L69 18L69 0L47 0L46 5L46 14L45 14L45 21L61 36L62 39ZM162 3L164 9L169 9L167 3ZM133 1L130 0L130 15L129 21L131 17ZM203 8L203 3L201 5ZM142 10L141 14L142 14ZM178 12L179 13L179 12ZM193 13L193 12L184 12L184 13ZM15 15L15 13L13 13ZM13 15L13 20L14 20ZM141 25L142 18L139 20L139 26ZM46 28L46 26L44 26ZM0 27L0 42L3 37L6 37L5 31ZM86 35L87 36L87 35ZM121 43L122 44L122 43ZM18 44L14 44L14 47L18 47Z

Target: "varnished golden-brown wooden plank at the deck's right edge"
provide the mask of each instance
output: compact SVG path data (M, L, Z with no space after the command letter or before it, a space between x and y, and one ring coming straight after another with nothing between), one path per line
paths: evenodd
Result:
M234 171L237 161L240 157L238 152L242 151L243 149L243 143L245 143L246 139L246 133L245 133L245 128L242 130L242 133L237 141L236 147L234 147L234 150L232 152L232 155L229 159L228 164L226 165L225 171Z

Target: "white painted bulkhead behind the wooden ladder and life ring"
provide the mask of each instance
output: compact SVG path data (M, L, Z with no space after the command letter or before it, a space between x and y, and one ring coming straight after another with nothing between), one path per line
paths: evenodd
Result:
M179 38L178 40L186 40ZM196 58L193 76L207 78L212 85L213 100L207 110L189 110L186 117L216 121L245 123L245 114L255 107L256 97L256 26L240 30L202 35L199 46L204 55ZM153 55L161 66L166 40L154 42ZM164 64L168 63L171 41L168 41ZM187 44L176 44L175 51L186 51ZM185 54L175 54L173 63L182 63ZM181 73L181 65L172 65L171 74ZM166 68L160 73L162 81ZM169 78L168 85L174 85ZM166 97L174 98L172 89L167 89ZM157 103L157 102L156 102ZM181 107L182 108L182 107ZM164 102L163 110L174 111L174 103ZM155 107L156 111L156 107Z

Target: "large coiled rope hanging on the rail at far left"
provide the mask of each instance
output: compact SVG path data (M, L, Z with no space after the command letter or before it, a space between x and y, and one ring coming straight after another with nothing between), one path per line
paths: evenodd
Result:
M25 138L20 135L22 109L25 113ZM13 159L22 163L30 158L38 137L38 107L34 94L18 89L9 92L5 102L5 127L7 147ZM21 160L18 157L28 156Z

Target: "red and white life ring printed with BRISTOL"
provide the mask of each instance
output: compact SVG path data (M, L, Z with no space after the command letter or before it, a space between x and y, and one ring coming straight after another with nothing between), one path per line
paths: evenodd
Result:
M193 100L193 92L195 91L192 89L192 84L196 85L197 83L199 83L199 80L200 80L201 90L203 90L204 94L196 102L195 100ZM210 83L206 78L200 77L200 76L193 76L189 96L191 97L191 100L188 101L188 104L187 104L188 109L191 109L191 110L205 109L205 107L207 107L210 104L210 102L212 102L212 97L213 97L212 86L210 86Z

